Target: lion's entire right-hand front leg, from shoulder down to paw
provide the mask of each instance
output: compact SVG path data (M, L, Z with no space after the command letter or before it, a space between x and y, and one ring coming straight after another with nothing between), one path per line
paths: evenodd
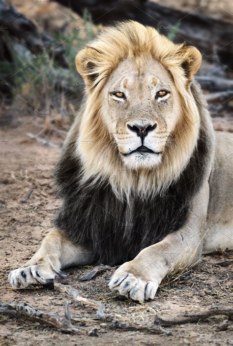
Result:
M186 268L201 257L207 204L208 187L205 187L195 197L185 225L122 264L109 287L133 300L153 299L170 271Z

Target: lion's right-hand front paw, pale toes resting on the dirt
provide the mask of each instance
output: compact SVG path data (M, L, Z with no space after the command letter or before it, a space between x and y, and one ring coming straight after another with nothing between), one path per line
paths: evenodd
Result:
M119 295L144 302L154 298L158 283L144 281L129 272L116 271L111 278L109 287L112 291L117 291Z

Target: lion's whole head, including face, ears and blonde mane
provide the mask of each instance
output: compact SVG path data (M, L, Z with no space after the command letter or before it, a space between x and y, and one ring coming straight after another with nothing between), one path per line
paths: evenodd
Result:
M201 62L196 47L133 21L104 29L78 53L86 98L73 140L83 181L109 179L123 200L179 177L199 136L191 86Z

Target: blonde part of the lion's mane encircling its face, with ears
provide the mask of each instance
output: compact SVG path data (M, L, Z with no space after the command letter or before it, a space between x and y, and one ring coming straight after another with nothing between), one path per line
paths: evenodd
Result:
M77 120L67 141L77 141L83 183L90 178L93 184L107 179L120 199L129 197L132 191L146 198L168 188L179 177L199 136L200 114L190 81L200 67L200 56L196 48L174 44L154 28L133 21L105 29L78 54L76 64L86 82L86 101L80 126ZM151 57L170 72L180 97L181 114L162 162L147 170L127 170L101 114L101 90L123 59L142 64ZM183 66L187 64L189 70L185 71Z

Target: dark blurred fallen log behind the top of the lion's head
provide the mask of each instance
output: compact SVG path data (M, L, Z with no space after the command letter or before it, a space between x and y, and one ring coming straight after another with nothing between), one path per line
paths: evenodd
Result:
M71 7L81 16L86 8L94 24L109 25L113 21L131 19L150 25L166 36L173 34L175 42L186 41L188 45L196 46L204 59L233 68L233 45L229 44L232 42L233 24L230 22L145 0L56 1Z

